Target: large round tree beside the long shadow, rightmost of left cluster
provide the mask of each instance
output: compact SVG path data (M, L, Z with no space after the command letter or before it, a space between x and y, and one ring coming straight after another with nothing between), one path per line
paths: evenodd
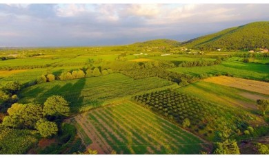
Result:
M68 102L59 95L52 95L44 103L43 115L52 117L68 116L70 108Z

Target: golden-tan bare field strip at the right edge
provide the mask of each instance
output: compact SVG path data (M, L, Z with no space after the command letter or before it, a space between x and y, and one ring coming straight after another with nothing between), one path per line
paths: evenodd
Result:
M238 89L245 89L248 91L255 91L269 95L269 83L256 80L246 80L242 78L232 78L227 76L218 76L212 78L206 78L204 81L221 84L224 86L235 87Z

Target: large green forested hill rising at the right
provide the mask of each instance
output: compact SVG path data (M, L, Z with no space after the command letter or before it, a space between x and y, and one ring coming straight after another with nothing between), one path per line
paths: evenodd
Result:
M182 43L201 50L238 50L269 47L269 21L248 23Z

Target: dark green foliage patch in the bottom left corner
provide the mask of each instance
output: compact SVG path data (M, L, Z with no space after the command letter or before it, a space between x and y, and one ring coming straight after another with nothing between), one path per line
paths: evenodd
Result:
M37 139L30 130L0 127L0 155L26 154Z

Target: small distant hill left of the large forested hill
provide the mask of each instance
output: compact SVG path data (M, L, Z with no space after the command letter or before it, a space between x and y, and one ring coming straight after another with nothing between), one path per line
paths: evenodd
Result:
M180 43L178 41L169 40L169 39L156 39L156 40L150 40L146 42L141 43L134 43L132 46L135 47L175 47L179 46Z

